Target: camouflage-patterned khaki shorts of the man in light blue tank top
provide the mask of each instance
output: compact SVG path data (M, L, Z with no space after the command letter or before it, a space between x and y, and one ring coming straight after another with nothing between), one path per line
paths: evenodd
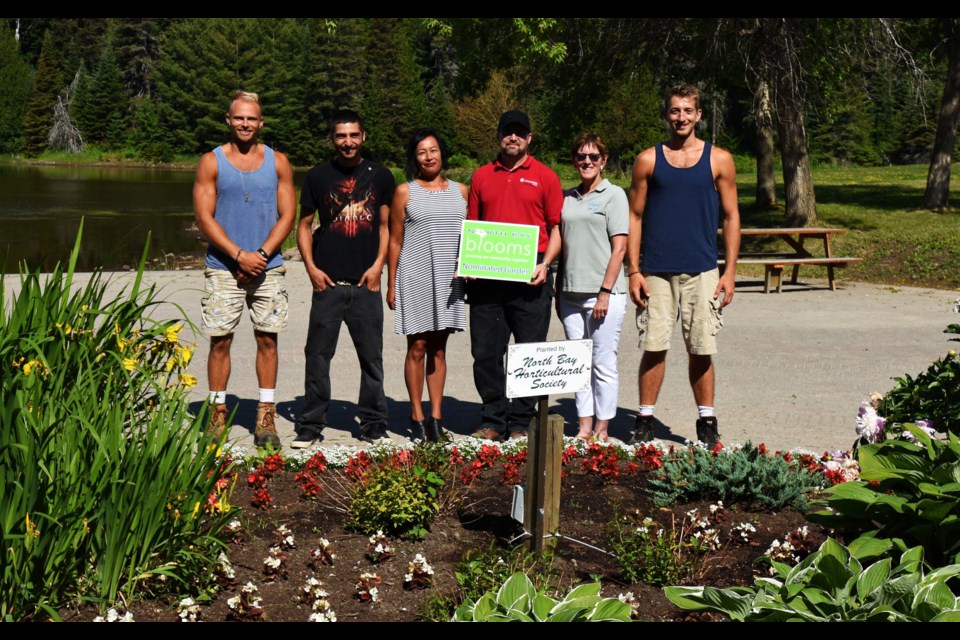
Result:
M240 324L244 306L250 308L250 321L257 331L286 331L289 307L286 273L286 268L280 266L238 284L234 275L225 269L204 269L207 295L200 300L203 332L211 338L232 334Z

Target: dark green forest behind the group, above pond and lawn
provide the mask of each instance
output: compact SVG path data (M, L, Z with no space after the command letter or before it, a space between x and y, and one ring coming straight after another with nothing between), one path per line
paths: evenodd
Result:
M816 221L811 165L825 163L928 164L923 206L948 206L952 18L6 18L0 153L194 161L244 89L262 97L264 141L299 166L329 156L335 108L363 114L378 160L402 165L431 126L464 167L521 108L541 159L565 162L594 130L627 170L665 137L660 102L680 81L702 90L702 136L756 171L757 204L782 185L788 224Z

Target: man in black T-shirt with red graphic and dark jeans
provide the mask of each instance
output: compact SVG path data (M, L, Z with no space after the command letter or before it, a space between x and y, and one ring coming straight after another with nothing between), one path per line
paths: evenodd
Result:
M309 447L326 427L330 361L341 323L360 361L360 437L369 442L387 437L380 275L395 183L387 169L360 155L366 134L356 112L334 113L330 131L336 155L307 172L300 194L297 246L313 285L313 303L294 448Z

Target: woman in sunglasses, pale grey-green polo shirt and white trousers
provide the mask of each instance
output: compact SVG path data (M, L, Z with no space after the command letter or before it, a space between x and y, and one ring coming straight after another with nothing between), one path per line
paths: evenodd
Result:
M578 136L571 156L580 184L563 201L557 312L568 340L593 340L590 389L576 398L577 437L606 441L620 391L617 348L627 306L623 257L629 209L627 194L602 175L607 146L599 135Z

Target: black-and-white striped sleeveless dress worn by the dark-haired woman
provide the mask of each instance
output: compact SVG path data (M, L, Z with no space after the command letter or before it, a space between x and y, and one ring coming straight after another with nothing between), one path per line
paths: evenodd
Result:
M408 183L394 325L401 335L466 328L463 280L454 276L467 203L459 184L448 183L443 191Z

